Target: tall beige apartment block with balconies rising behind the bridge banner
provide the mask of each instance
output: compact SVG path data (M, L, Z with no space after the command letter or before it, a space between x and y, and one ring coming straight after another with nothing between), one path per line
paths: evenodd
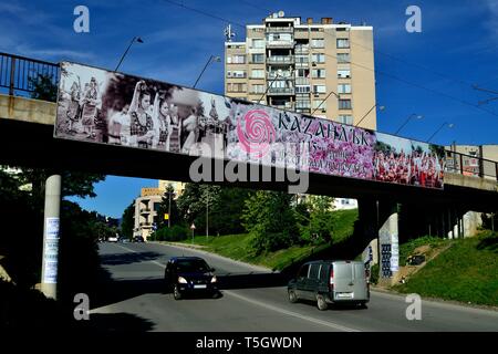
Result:
M225 94L376 129L373 29L271 14L225 42Z

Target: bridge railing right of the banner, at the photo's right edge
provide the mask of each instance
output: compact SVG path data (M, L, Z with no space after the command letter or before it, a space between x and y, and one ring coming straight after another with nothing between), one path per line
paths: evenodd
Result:
M498 181L498 162L452 150L445 150L445 154L446 171Z

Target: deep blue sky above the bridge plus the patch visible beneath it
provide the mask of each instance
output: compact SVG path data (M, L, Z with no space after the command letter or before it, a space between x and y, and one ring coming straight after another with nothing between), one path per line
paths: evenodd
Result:
M198 12L172 4L184 3ZM401 135L426 140L443 123L433 142L496 144L498 101L479 105L488 94L473 84L498 90L498 0L403 1L28 1L0 3L0 51L58 62L71 60L114 69L134 35L134 44L121 71L191 86L209 55L224 54L224 28L260 23L270 11L288 15L331 17L335 22L374 27L376 96L385 111L377 114L377 128L394 133L412 113ZM90 9L90 33L75 33L73 10ZM405 9L422 9L422 33L408 33ZM222 93L222 63L212 63L198 87ZM423 86L423 87L422 87ZM118 217L124 207L154 180L108 177L96 185L98 197L82 200L84 208Z

